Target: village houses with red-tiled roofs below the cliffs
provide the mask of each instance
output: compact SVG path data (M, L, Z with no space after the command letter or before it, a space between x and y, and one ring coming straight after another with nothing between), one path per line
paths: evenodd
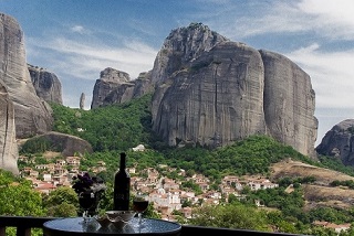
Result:
M34 168L23 168L21 174L32 181L35 190L46 194L58 186L71 186L72 176L81 173L80 157L66 157L49 164L37 164L35 160L30 160L27 157L20 157L19 160L32 163L31 167ZM191 181L202 191L201 194L196 195L196 193L190 190L183 190L183 181L166 178L154 168L145 169L142 173L136 173L136 168L129 168L132 192L139 191L148 193L149 202L154 203L155 210L162 214L163 218L168 221L174 219L171 214L174 211L181 212L186 218L191 217L190 205L217 205L222 199L227 200L230 194L242 199L244 196L242 196L240 192L244 186L249 186L250 190L253 191L278 187L278 184L263 178L244 178L240 180L238 176L225 176L219 185L219 191L215 191L210 187L210 180L201 174L187 178L184 170L176 170L167 165L160 165L159 169L165 169L164 171L167 172L177 171L178 175L181 176L180 179ZM105 163L98 161L90 171L94 173L106 171ZM188 202L188 206L183 207L183 203L186 202ZM256 204L262 206L260 202Z

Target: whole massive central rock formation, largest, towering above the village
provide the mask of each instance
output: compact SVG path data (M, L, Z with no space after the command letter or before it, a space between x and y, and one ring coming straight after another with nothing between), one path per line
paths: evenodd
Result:
M315 155L310 76L280 54L191 24L166 39L152 81L153 129L170 146L218 147L268 135Z

